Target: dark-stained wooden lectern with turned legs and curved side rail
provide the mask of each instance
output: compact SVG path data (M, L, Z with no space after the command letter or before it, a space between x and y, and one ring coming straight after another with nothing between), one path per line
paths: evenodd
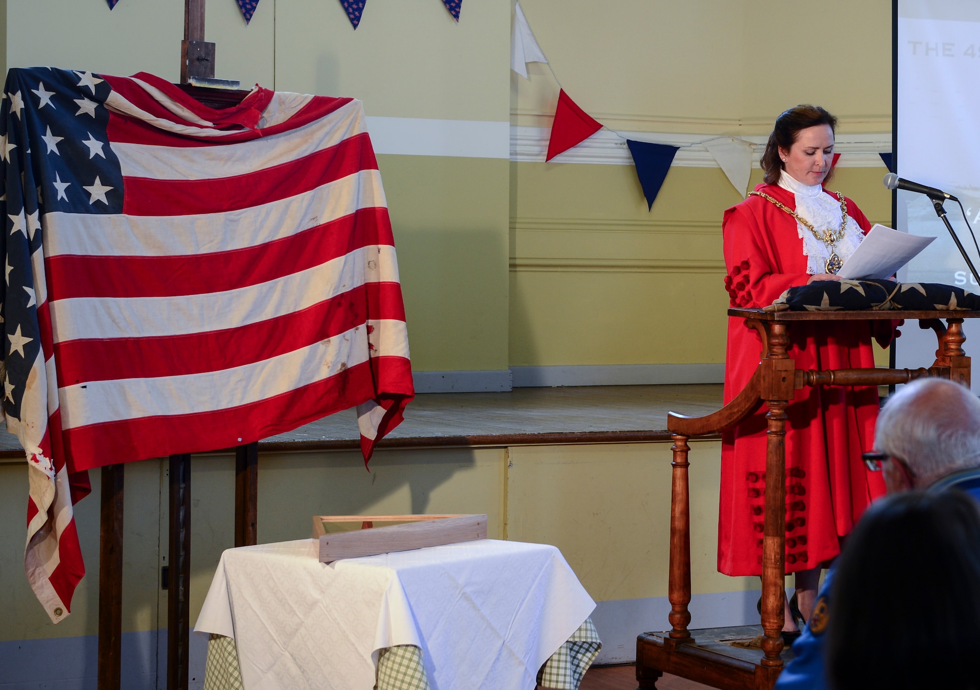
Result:
M962 323L980 318L980 312L765 312L760 309L730 309L728 316L745 319L762 339L759 368L748 385L730 403L706 417L684 417L670 413L667 428L673 438L673 478L670 494L670 576L668 616L671 629L645 632L636 639L638 690L655 690L663 673L672 673L725 690L769 690L779 677L784 661L791 658L783 649L785 565L785 436L786 408L794 391L804 386L894 385L924 376L949 378L970 384L970 358L963 353ZM787 353L789 329L798 321L918 320L920 328L936 331L939 348L928 369L799 370ZM946 320L944 324L942 320ZM726 639L758 634L758 628L714 628L689 630L691 614L691 530L688 500L688 439L717 434L733 428L756 413L762 403L768 408L766 431L764 532L762 542L762 638L761 649L727 644ZM855 459L855 462L860 462Z

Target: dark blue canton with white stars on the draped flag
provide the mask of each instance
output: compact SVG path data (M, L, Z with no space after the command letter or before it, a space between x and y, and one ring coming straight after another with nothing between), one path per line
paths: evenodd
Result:
M41 219L123 211L123 173L107 134L109 93L109 84L89 72L30 68L7 75L0 105L0 213L7 223L0 318L4 410L15 419L42 344L34 266L43 278ZM43 303L43 285L40 292Z

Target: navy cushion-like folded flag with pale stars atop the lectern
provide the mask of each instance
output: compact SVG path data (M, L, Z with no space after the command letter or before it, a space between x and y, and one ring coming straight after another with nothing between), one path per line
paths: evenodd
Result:
M766 312L828 312L836 310L980 310L980 296L961 287L936 282L891 280L817 280L791 287Z

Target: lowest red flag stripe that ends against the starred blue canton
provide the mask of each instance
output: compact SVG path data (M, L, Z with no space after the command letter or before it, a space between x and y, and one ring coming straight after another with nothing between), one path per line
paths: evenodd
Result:
M123 214L219 214L286 199L363 170L377 170L367 133L255 173L210 179L123 177Z

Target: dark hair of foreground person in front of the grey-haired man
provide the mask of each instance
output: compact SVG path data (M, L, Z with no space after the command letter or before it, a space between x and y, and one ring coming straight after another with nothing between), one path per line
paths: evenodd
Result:
M874 503L834 567L835 690L980 687L980 514L955 490Z

